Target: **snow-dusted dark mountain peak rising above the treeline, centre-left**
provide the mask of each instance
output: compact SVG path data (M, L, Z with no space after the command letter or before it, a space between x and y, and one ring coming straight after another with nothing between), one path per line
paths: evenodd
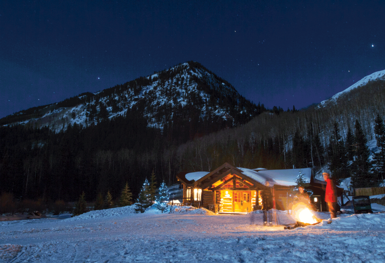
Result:
M235 115L252 116L253 106L231 84L199 63L187 62L99 92L23 110L3 118L1 123L48 126L59 132L69 124L85 127L122 116L128 109L140 111L148 125L156 127L162 127L175 115L235 123Z

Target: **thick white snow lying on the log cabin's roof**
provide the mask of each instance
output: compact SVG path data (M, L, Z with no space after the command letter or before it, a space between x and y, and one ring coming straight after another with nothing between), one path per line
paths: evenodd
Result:
M286 169L286 170L266 170L264 168L258 169L248 169L237 167L242 171L242 174L245 176L252 178L253 180L265 185L266 181L270 183L270 186L274 184L284 185L284 186L292 186L297 185L295 180L298 178L299 172L301 171L303 175L303 179L310 182L310 178L312 176L311 168L302 168L302 169ZM263 170L260 170L263 169ZM194 172L188 173L185 175L185 178L189 181L195 180L198 181L205 175L209 174L209 172Z

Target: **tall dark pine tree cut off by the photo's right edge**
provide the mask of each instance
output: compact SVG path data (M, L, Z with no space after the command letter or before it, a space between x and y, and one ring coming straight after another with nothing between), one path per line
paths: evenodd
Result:
M382 118L377 114L374 126L374 133L377 141L378 153L374 154L374 163L378 172L378 179L383 181L385 176L385 125Z

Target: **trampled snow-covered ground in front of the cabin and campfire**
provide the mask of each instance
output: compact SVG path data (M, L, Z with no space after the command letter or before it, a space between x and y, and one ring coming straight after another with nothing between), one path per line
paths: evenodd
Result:
M378 207L385 210L384 206ZM385 214L341 214L328 224L263 227L262 214L174 214L132 207L68 219L0 222L0 262L384 262ZM317 213L326 219L327 213Z

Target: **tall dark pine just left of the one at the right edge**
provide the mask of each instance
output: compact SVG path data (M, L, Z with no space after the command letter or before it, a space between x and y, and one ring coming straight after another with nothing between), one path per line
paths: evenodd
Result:
M369 172L369 148L367 139L362 132L361 124L356 120L355 124L355 156L352 163L353 187L369 187L375 185L373 174Z

